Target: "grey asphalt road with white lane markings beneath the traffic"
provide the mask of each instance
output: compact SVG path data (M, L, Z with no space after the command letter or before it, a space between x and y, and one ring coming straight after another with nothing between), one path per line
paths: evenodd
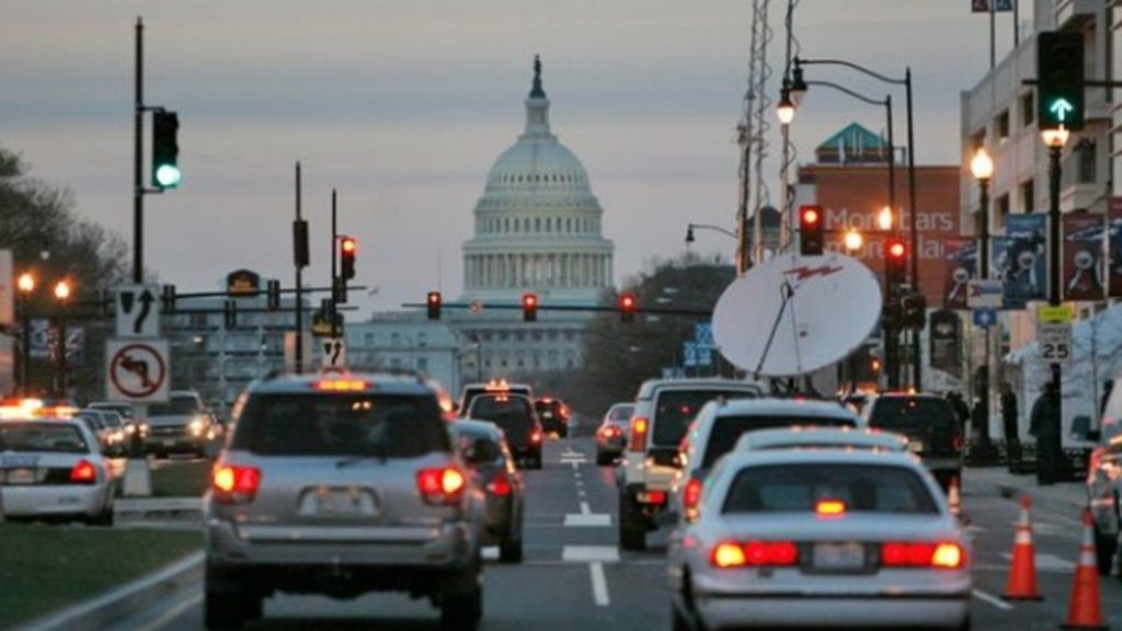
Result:
M614 475L609 467L596 466L591 439L549 442L544 468L524 475L528 490L525 563L488 565L482 629L669 629L665 532L652 536L643 552L617 548ZM1067 615L1079 543L1076 515L1033 512L1045 601L1005 603L997 595L1005 585L1018 506L967 481L964 507L973 519L976 548L974 628L1057 629ZM116 629L202 629L201 589L200 584L177 592L149 611L135 612ZM1122 624L1122 584L1103 580L1102 595L1107 621ZM277 596L266 601L265 620L249 628L420 631L435 630L436 618L427 602L399 595L375 594L346 602Z

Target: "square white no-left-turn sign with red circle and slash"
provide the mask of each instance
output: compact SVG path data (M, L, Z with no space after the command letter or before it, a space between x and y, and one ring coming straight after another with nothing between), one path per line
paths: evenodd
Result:
M165 339L105 341L105 397L110 401L167 401L169 350Z

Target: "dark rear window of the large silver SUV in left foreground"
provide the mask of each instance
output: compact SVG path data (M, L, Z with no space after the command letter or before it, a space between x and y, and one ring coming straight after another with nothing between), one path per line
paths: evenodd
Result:
M252 395L232 448L265 456L385 458L451 450L435 396L389 394Z

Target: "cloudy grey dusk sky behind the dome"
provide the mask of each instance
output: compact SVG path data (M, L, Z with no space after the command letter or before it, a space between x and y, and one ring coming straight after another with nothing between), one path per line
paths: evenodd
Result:
M772 99L785 4L771 2ZM142 16L145 101L178 112L183 171L178 189L146 195L145 266L181 292L241 267L289 286L300 161L305 283L328 283L335 189L340 232L360 244L355 283L376 287L351 296L362 312L396 310L433 289L459 295L472 209L522 131L540 54L553 131L589 173L624 283L679 256L687 223L734 227L751 12L749 0L0 0L0 146L131 243ZM1011 18L997 27L1001 53ZM988 19L968 0L800 0L794 35L803 57L910 65L918 164L958 159L959 94L988 70ZM810 70L877 99L892 89ZM883 120L812 91L791 128L799 161L850 121ZM779 190L778 161L765 179ZM732 260L735 243L698 232L691 248Z

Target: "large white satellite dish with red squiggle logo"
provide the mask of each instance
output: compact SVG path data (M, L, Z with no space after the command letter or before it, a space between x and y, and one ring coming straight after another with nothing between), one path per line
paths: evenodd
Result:
M857 259L781 255L728 285L712 330L720 354L741 369L787 377L849 355L880 313L877 278Z

